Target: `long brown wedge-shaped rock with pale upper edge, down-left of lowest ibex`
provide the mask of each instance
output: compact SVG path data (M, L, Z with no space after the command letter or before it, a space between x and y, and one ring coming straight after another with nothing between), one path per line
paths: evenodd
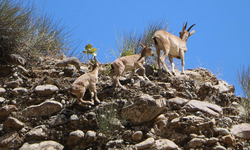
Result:
M32 105L22 111L24 117L41 117L49 116L60 111L63 105L57 101L45 101L39 105Z

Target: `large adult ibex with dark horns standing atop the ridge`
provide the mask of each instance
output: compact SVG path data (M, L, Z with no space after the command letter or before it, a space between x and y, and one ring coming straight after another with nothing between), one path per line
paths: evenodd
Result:
M184 53L187 51L187 40L188 38L195 33L195 30L189 32L191 28L194 26L190 26L187 30L187 23L184 25L182 31L179 33L180 37L177 37L169 32L166 32L165 30L159 30L156 31L155 34L152 37L152 41L155 45L156 48L156 53L157 53L157 61L158 61L158 67L161 69L161 64L162 63L164 69L172 75L172 73L168 70L165 64L165 59L168 56L169 61L172 66L172 71L175 74L174 71L174 63L173 63L173 58L178 58L181 59L181 65L182 65L182 73L185 74L184 72ZM163 50L163 54L160 57L160 51Z

